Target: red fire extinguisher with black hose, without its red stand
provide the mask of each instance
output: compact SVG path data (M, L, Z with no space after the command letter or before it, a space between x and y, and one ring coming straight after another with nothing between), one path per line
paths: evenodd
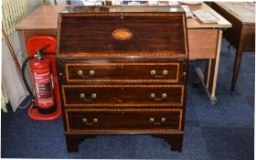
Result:
M40 48L35 55L29 56L22 65L22 78L27 88L27 92L32 101L32 107L37 109L41 114L50 114L57 109L54 83L52 80L52 71L49 59L44 59L43 55L54 53L43 53L43 50L48 48L45 46ZM30 90L25 77L25 69L29 61L29 66L32 72L34 93Z

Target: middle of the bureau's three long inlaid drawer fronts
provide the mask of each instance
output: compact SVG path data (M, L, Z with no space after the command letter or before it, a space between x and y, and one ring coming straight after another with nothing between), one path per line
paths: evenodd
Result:
M183 106L184 85L63 85L64 106Z

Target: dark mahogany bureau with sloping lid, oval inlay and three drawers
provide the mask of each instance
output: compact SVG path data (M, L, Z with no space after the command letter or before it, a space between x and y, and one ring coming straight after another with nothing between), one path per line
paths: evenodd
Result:
M68 6L56 61L69 152L104 134L151 134L181 151L187 18L179 6Z

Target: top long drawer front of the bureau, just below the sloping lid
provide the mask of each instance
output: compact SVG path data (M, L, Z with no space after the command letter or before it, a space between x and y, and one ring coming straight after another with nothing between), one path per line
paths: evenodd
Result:
M183 63L67 63L66 80L87 81L169 81L185 80Z

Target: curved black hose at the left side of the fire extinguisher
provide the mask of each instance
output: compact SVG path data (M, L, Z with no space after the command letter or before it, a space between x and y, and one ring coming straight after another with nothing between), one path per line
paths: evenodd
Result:
M37 55L37 54L32 55L32 56L29 56L27 59L25 59L25 61L24 61L23 64L22 64L22 68L21 68L21 70L22 70L22 79L23 79L23 81L24 81L25 87L26 87L27 92L28 92L28 96L29 96L30 100L32 101L34 108L37 108L37 105L36 105L36 103L35 103L35 96L33 95L33 92L30 90L30 87L29 87L29 85L28 85L28 83L27 83L26 76L25 76L25 69L26 69L26 67L27 67L28 61L29 61L30 59L36 58L36 55ZM41 55L54 55L54 53L41 53Z

